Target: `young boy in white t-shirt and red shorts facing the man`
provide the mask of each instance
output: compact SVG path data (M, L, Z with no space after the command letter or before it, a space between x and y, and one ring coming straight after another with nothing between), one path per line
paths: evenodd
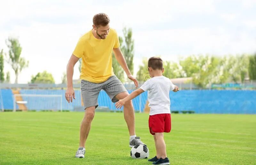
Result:
M121 108L126 101L148 91L148 106L150 107L148 126L156 145L156 156L148 161L152 161L153 164L170 164L166 156L164 132L171 131L169 91L177 92L179 88L173 85L169 78L162 75L164 68L161 58L151 57L148 59L148 72L151 78L129 96L119 100L116 103L116 108Z

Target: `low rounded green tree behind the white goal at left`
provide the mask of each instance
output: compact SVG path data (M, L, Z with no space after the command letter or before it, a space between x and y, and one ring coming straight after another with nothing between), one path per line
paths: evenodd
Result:
M47 73L46 71L42 73L37 73L35 76L31 76L31 83L45 83L45 84L53 84L54 79L51 73Z

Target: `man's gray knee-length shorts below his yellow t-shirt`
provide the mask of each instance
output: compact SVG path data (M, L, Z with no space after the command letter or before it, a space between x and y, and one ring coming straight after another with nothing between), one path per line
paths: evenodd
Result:
M82 98L84 102L84 109L90 106L98 106L98 96L100 90L105 90L113 103L118 99L115 96L121 92L127 92L123 83L115 76L110 76L108 80L103 83L91 83L89 81L81 80L80 89L82 91Z

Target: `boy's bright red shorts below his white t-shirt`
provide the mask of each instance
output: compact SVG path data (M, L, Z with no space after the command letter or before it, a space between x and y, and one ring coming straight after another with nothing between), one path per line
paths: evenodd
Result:
M170 132L172 128L171 114L149 115L148 126L152 135L155 135L155 132Z

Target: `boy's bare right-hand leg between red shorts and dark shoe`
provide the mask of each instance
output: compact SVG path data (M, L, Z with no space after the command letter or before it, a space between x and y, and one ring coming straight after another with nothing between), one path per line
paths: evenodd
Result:
M156 138L156 148L158 148L158 151L156 149L156 152L157 152L157 155L156 157L157 158L166 158L166 146L165 146L165 142L164 142L164 132L161 132L161 133L155 133L155 136L154 138ZM159 157L158 157L159 156Z

